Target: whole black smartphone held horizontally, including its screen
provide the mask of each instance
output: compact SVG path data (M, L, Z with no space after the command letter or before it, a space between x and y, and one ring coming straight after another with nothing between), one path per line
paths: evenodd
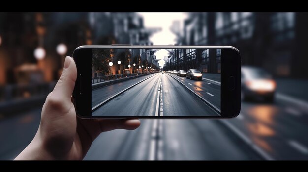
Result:
M231 46L80 46L80 118L231 118L241 109L241 56Z

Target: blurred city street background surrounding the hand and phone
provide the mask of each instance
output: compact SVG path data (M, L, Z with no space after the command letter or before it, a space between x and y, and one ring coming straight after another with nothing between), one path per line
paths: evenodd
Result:
M0 159L31 142L66 55L81 45L131 44L238 48L241 113L142 120L134 131L102 133L86 160L308 160L307 21L293 12L0 13ZM204 58L191 63L206 73ZM180 63L159 61L164 70Z

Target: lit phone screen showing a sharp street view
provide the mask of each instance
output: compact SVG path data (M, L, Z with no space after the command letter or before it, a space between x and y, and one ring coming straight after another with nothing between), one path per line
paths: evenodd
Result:
M92 49L92 116L220 116L221 49Z

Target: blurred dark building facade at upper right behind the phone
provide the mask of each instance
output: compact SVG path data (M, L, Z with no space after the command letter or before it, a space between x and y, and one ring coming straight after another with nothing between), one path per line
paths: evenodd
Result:
M264 68L277 77L307 79L307 20L308 13L293 12L190 13L178 44L234 46L241 52L242 65ZM212 72L220 71L219 60L215 64L192 60L202 72L210 72L209 65L215 66Z

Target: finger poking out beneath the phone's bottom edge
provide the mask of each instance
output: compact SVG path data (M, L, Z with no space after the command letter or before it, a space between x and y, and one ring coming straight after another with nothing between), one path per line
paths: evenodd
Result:
M134 130L140 126L138 119L121 119L121 120L99 120L100 131L110 131L114 129Z

